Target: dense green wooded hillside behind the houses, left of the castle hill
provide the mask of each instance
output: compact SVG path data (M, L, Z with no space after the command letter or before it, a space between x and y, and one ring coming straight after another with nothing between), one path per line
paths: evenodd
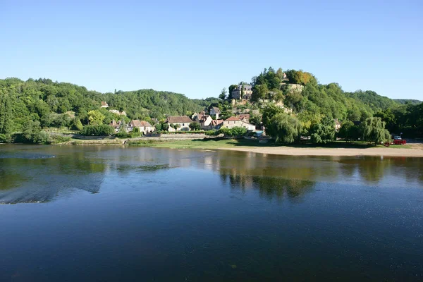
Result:
M128 119L165 118L201 111L217 98L188 99L183 94L154 90L100 93L66 82L49 79L6 78L0 80L0 133L21 131L28 121L38 121L42 128L68 126L75 116L82 125L89 123L88 113L99 110L101 102L109 109L125 111ZM106 109L104 123L120 118Z

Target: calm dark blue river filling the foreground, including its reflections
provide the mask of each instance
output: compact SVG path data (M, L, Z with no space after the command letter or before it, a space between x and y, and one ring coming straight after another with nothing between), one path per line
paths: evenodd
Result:
M0 146L0 281L423 281L423 158Z

